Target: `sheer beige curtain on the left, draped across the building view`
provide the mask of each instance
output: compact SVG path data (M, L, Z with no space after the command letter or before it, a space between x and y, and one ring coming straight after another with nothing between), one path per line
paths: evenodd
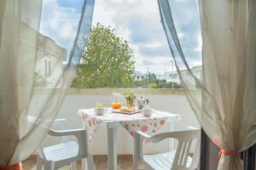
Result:
M36 150L73 81L94 0L68 2L0 1L0 167Z

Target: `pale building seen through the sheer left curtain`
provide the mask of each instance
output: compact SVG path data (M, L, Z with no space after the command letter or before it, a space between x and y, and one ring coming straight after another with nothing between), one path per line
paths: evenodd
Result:
M53 88L56 87L56 82L59 82L59 78L63 73L63 61L67 57L66 48L61 48L56 42L46 37L38 31L36 31L32 26L27 25L24 22L21 22L20 25L23 29L21 34L21 40L24 45L23 49L26 50L32 46L37 46L37 62L35 65L35 74L34 74L34 85L35 87L40 88ZM38 38L38 43L31 43L27 35L32 35L34 38ZM20 52L23 53L23 52ZM29 57L29 56L28 56ZM26 79L26 74L20 73L24 79Z

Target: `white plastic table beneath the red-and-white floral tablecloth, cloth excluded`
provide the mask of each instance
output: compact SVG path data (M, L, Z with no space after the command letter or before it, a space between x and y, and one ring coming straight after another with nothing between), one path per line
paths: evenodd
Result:
M92 109L88 110L79 110L79 116L83 116L84 112L88 114L92 114L91 111ZM165 113L165 118L166 122L168 123L168 131L173 131L173 122L176 122L180 119L179 115L172 114L169 112L162 112L162 111L155 111L155 114L160 114L160 113ZM142 113L140 113L142 115ZM127 117L127 115L125 115ZM97 117L97 116L96 116ZM101 117L100 117L101 118ZM147 119L148 117L145 117ZM139 117L139 120L142 120L142 116ZM117 128L119 127L124 127L120 124L121 121L113 119L113 120L108 120L104 119L102 120L100 126L106 127L108 129L108 170L117 170ZM83 121L83 127L84 121ZM173 140L169 140L169 150L173 149Z

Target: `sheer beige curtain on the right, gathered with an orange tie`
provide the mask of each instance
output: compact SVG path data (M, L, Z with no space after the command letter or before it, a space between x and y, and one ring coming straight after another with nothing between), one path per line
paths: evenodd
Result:
M256 1L199 2L202 81L189 68L189 54L183 53L186 47L178 38L172 0L158 0L161 22L201 127L220 150L236 155L256 143ZM189 86L191 81L201 88L201 99ZM218 170L228 169L243 169L240 156L222 154Z

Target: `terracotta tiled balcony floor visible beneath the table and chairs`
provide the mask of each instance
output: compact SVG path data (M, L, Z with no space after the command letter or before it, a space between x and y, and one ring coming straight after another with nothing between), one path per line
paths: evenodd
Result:
M36 170L36 156L30 156L26 161L22 162L24 170ZM94 162L96 163L97 170L108 169L108 156L94 156ZM118 169L129 170L132 165L131 155L118 156ZM140 166L142 167L142 166ZM69 170L69 166L61 167L61 170ZM78 162L78 169L81 169L81 161ZM143 167L140 168L143 170Z

